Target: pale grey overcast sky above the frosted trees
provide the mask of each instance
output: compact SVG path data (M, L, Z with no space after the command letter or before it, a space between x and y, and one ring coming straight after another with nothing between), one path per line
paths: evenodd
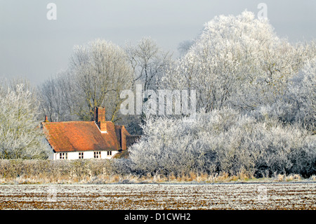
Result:
M57 20L48 20L48 3ZM316 1L236 0L0 0L0 77L26 77L39 84L67 67L74 45L102 38L124 46L152 37L178 55L178 44L194 39L216 15L255 15L259 3L279 37L316 37Z

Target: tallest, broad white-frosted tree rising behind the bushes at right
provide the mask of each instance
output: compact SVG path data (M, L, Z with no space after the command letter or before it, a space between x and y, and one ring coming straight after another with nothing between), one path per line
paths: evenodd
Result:
M298 49L280 39L268 20L244 11L204 25L183 57L162 78L164 88L196 89L197 108L254 110L275 101L303 65Z

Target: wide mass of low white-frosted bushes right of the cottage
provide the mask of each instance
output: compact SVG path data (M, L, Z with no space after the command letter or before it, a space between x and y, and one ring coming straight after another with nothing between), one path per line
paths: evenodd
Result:
M316 136L284 125L265 110L240 114L225 108L199 112L195 120L148 119L130 150L138 173L316 173Z

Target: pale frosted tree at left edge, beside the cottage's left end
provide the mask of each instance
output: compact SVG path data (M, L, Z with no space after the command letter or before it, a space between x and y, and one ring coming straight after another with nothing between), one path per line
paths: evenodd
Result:
M47 145L37 120L39 104L23 84L2 86L0 158L45 159Z

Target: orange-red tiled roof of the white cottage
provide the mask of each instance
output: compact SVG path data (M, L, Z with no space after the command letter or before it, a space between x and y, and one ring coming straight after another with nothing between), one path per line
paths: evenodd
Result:
M48 143L55 152L119 150L115 126L107 122L101 133L94 121L43 122Z

